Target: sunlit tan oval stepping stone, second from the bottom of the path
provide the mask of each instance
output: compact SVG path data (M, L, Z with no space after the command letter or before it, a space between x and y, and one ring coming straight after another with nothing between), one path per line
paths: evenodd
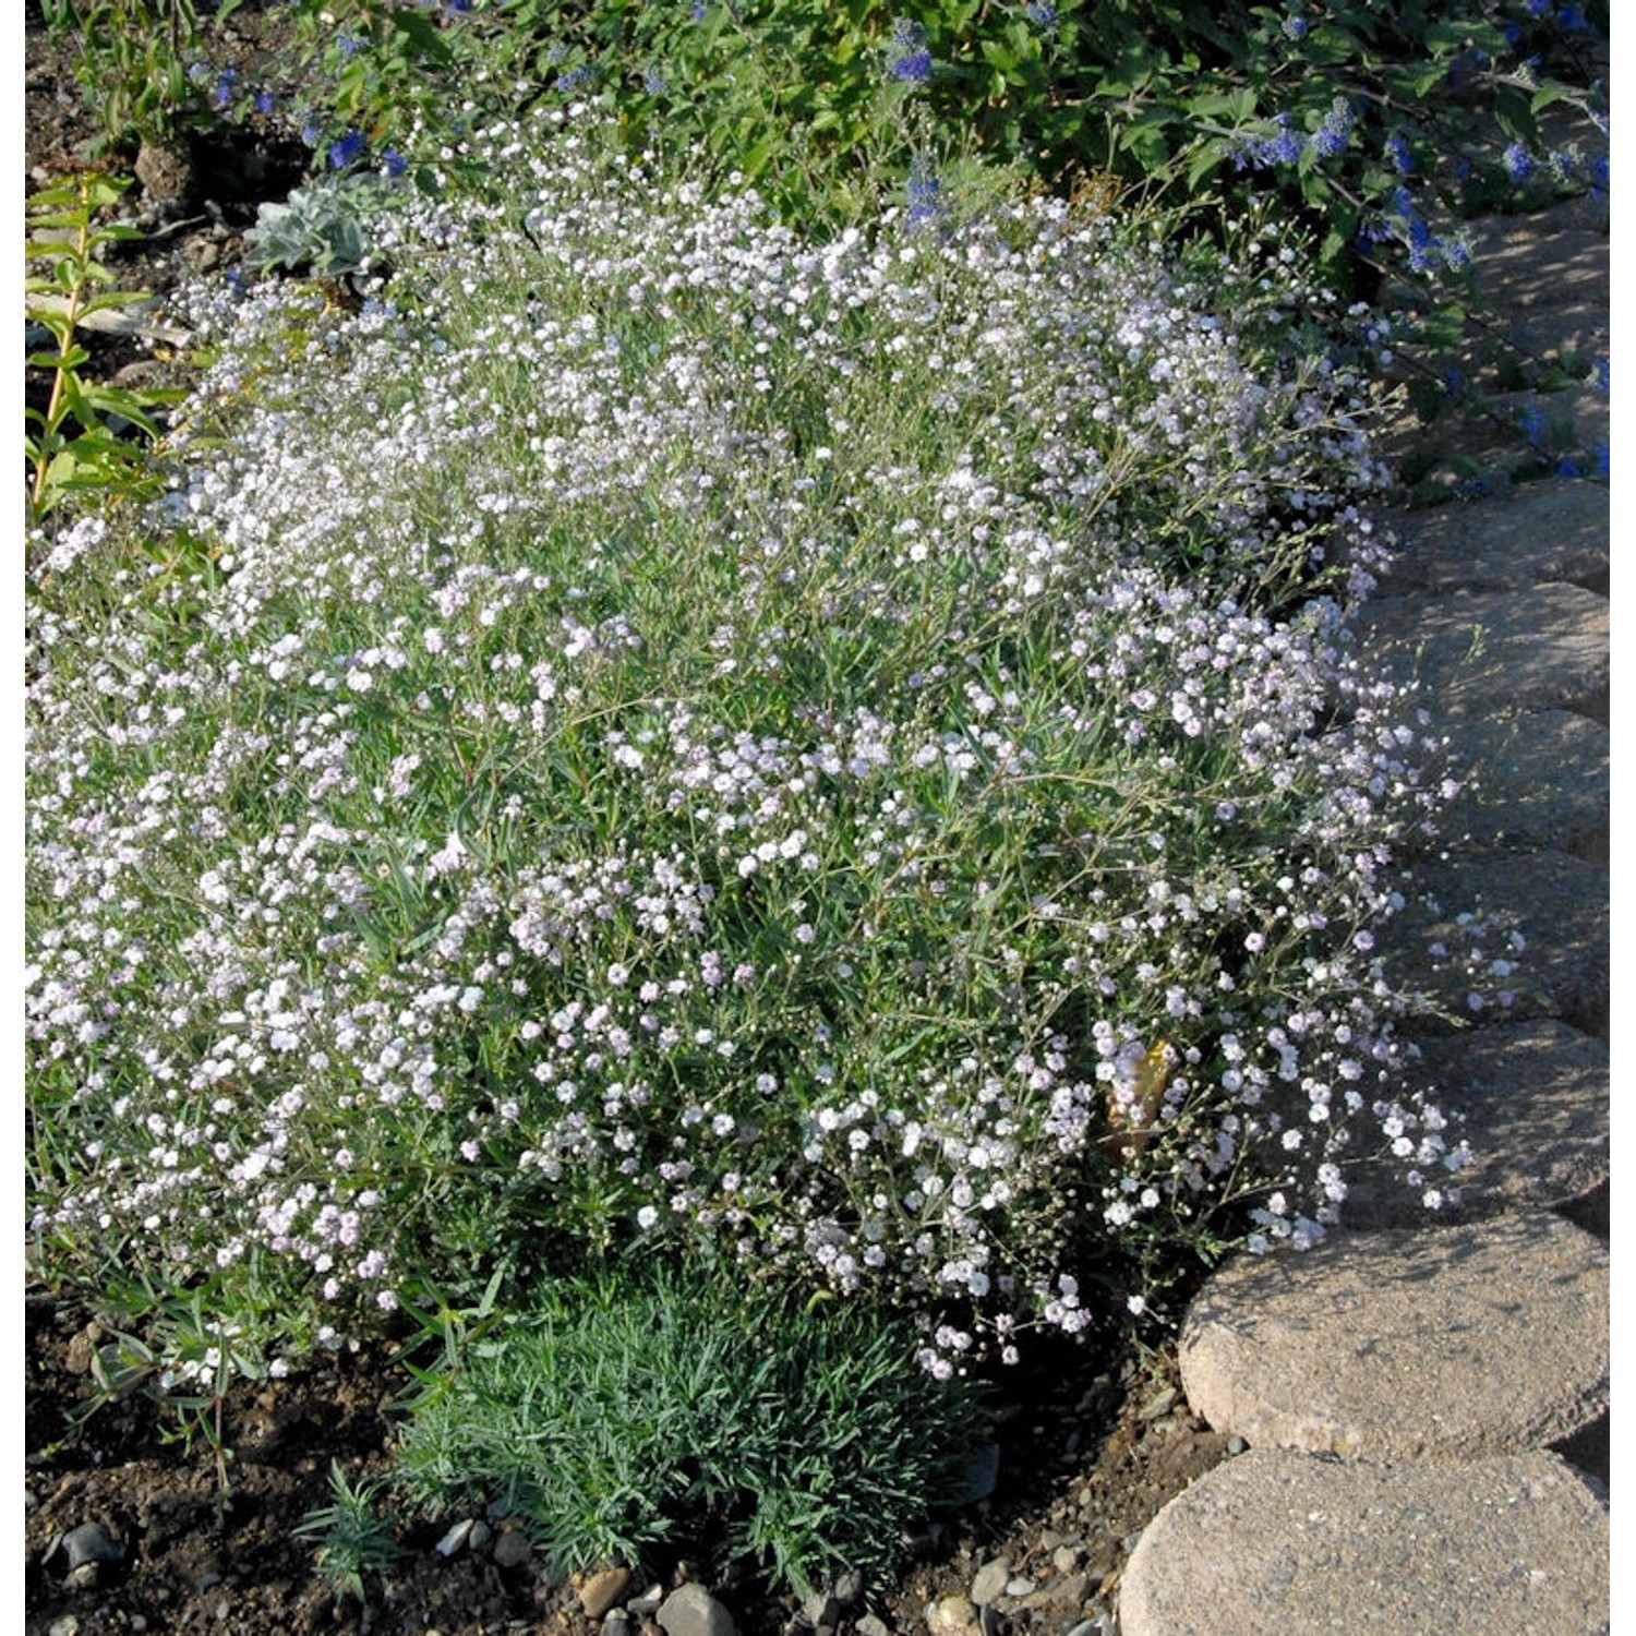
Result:
M1608 1404L1608 1252L1548 1212L1240 1256L1181 1384L1217 1432L1363 1459L1543 1448Z

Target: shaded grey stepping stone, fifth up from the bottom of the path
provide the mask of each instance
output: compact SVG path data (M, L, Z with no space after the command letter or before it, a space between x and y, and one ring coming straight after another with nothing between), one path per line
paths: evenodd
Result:
M1454 841L1554 849L1608 864L1608 730L1567 710L1443 723L1461 793L1438 823Z

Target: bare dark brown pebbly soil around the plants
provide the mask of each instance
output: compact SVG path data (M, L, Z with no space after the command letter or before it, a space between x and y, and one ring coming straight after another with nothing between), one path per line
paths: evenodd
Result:
M234 15L229 61L244 72L265 64L276 46L276 7L252 0ZM85 165L100 121L33 5L26 62L33 190ZM129 164L136 155L123 157ZM188 157L183 196L144 196L141 187L128 195L124 214L147 237L123 252L121 283L164 293L193 270L232 265L255 206L283 198L306 155L268 124L195 144ZM88 373L111 378L146 362L141 344L98 339ZM219 1435L231 1458L219 1467L209 1436L195 1432L190 1443L175 1410L141 1391L92 1407L90 1356L106 1337L83 1301L33 1289L26 1310L26 1636L600 1629L581 1611L573 1585L546 1582L519 1541L504 1539L504 1518L481 1549L452 1557L437 1543L456 1518L406 1521L398 1530L406 1556L389 1584L371 1584L365 1607L337 1598L312 1544L293 1530L329 1503L332 1463L355 1484L386 1469L394 1404L409 1386L388 1345L316 1360L283 1381L234 1386L221 1405ZM1054 1376L1036 1378L1008 1410L995 1495L929 1526L916 1567L895 1587L870 1587L852 1616L867 1608L888 1629L923 1629L929 1602L967 1590L977 1567L1000 1554L1039 1592L1032 1608L1000 1621L990 1615L993 1631L1055 1636L1106 1611L1126 1541L1224 1458L1220 1436L1184 1412L1155 1409L1165 1368L1162 1360L1137 1368L1075 1355ZM118 1546L119 1561L70 1574L62 1539L87 1523ZM687 1562L656 1571L672 1582L705 1574ZM793 1600L754 1584L717 1590L741 1636L784 1631L797 1611ZM633 1621L631 1629L651 1636L658 1626Z

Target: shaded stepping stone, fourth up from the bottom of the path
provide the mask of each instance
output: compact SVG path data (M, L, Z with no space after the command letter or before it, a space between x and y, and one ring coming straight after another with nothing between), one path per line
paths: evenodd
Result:
M1597 1039L1608 1036L1611 910L1608 874L1566 852L1481 852L1414 870L1417 900L1381 947L1414 980L1467 1021L1554 1016ZM1461 916L1477 915L1476 936ZM1521 947L1510 949L1512 933ZM1427 951L1448 957L1432 965ZM1481 951L1476 970L1466 957ZM1494 960L1512 969L1494 969ZM1481 1006L1474 1006L1472 995ZM1507 1006L1502 995L1510 995ZM1428 1031L1435 1024L1427 1022Z

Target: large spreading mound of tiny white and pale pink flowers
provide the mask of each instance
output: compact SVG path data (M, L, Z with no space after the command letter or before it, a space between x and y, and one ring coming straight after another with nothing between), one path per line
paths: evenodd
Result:
M946 1376L1366 1153L1456 1196L1374 951L1433 746L1274 236L808 242L481 141L362 311L224 290L167 504L31 591L38 1265L294 1348L651 1252Z

